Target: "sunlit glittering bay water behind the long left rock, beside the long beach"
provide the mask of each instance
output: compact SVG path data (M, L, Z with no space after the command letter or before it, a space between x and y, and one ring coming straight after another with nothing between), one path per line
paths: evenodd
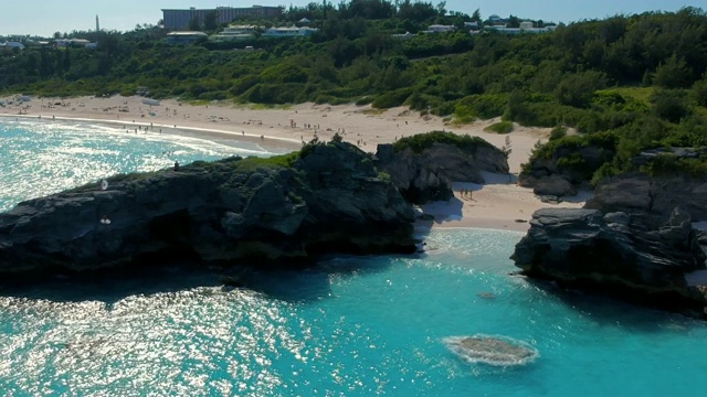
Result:
M254 144L177 135L126 133L117 127L0 119L0 212L39 197L128 172L148 172L231 155L272 155Z

